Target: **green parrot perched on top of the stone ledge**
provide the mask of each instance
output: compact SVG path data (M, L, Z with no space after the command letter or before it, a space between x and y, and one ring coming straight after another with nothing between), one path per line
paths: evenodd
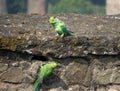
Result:
M57 36L60 35L61 37L64 36L77 36L76 34L70 33L67 30L67 27L65 25L65 23L61 20L59 20L58 18L56 18L55 16L51 16L49 19L49 23L52 24L55 32L57 33Z

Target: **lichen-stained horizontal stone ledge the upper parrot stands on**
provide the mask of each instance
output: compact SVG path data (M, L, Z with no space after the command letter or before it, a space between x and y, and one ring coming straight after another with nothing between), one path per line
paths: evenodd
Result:
M0 15L0 49L56 58L119 54L119 16L56 15L78 36L64 38L55 36L49 16Z

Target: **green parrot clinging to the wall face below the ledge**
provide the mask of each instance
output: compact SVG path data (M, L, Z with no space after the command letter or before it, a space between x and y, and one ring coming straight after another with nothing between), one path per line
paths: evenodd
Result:
M39 91L43 80L46 77L48 77L53 72L53 69L57 66L58 66L58 64L56 62L50 62L50 63L47 63L47 64L41 66L38 78L34 83L34 91Z

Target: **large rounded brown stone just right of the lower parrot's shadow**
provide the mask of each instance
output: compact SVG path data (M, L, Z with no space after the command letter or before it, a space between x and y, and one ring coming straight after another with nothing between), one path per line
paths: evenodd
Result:
M67 84L82 84L88 69L88 64L83 59L71 62L65 71Z

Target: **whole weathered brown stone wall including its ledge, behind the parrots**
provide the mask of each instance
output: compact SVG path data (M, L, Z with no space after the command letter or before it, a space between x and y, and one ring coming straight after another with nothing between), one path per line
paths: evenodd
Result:
M56 37L48 16L0 16L0 91L33 91L39 67L59 66L42 91L120 91L120 17L57 15L77 37Z

